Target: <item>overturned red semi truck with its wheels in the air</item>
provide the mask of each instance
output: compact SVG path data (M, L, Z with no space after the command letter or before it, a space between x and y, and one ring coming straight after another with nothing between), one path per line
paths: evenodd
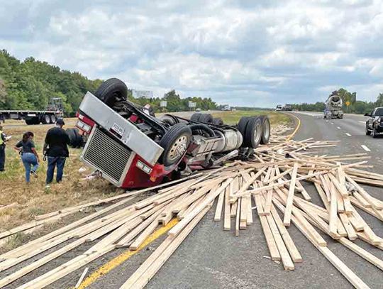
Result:
M155 117L130 102L127 92L121 80L106 80L85 94L77 113L85 142L81 160L117 187L158 185L231 158L249 158L269 142L267 116L242 117L236 126L211 114Z

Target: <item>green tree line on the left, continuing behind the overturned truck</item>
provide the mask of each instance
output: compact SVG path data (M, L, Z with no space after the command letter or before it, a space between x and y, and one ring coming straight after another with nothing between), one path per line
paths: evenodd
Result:
M0 50L0 110L46 109L51 98L60 97L65 114L74 116L84 94L96 92L102 82L89 80L79 72L61 70L33 57L21 61L6 50ZM210 98L181 98L174 90L152 99L133 99L129 90L128 97L141 105L151 104L155 111L162 110L162 100L167 101L166 111L189 110L189 101L201 109L216 109L216 103Z

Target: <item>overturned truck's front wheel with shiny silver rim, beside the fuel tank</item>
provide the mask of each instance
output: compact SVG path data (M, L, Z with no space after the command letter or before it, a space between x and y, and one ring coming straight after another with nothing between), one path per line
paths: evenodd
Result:
M186 124L175 124L165 136L162 136L160 146L164 148L158 160L165 166L177 163L186 153L191 140L191 129Z

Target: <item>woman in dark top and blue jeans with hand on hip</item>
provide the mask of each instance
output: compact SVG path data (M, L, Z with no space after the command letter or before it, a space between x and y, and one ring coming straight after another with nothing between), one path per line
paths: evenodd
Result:
M21 154L24 168L26 168L26 182L30 182L30 174L37 178L36 170L38 169L38 153L35 150L35 143L33 143L33 133L26 132L23 134L23 139L16 143L15 150ZM32 169L30 168L32 167Z

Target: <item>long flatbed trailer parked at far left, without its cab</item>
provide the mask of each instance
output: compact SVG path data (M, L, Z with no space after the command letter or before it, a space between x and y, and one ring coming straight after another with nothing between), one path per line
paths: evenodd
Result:
M55 124L62 117L62 111L52 110L0 110L0 121L6 119L24 119L26 124Z

